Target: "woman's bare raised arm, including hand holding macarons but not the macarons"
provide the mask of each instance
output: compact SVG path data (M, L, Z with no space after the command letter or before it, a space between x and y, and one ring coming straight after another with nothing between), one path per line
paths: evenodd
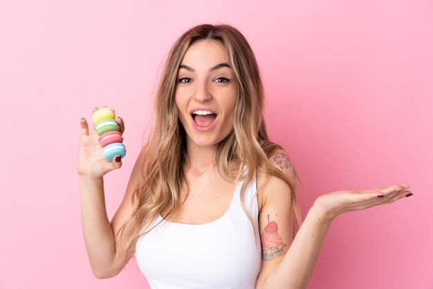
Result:
M123 121L118 118L118 122L121 132L123 132L125 129ZM129 222L125 228L122 240L115 242L114 236L120 226L131 216L131 195L138 181L139 169L136 164L129 180L125 198L110 223L105 207L103 176L113 169L120 168L122 163L121 161L116 162L115 159L112 162L104 160L94 129L89 134L86 120L82 119L80 123L82 133L78 150L77 171L80 179L84 241L95 277L113 277L125 267L129 260L123 245L131 237L133 221ZM118 258L115 258L116 252Z

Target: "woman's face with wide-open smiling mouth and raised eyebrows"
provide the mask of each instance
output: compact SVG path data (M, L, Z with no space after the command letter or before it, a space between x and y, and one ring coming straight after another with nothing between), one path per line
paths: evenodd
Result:
M178 69L175 100L187 145L215 146L233 129L237 98L234 73L220 41L188 48Z

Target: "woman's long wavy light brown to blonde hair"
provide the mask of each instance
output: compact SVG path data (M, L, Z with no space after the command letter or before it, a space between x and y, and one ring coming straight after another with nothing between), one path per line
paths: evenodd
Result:
M264 88L250 45L241 32L232 26L202 24L187 30L176 41L160 75L149 140L140 153L142 178L132 196L134 210L131 218L136 222L133 236L126 247L127 254L131 257L134 256L138 239L149 229L154 218L162 212L168 212L165 218L169 218L182 205L181 187L185 183L182 167L187 155L185 130L178 119L174 100L176 77L187 49L194 42L203 39L221 41L237 84L233 130L219 143L214 154L219 174L234 183L243 180L241 203L253 227L252 216L243 202L243 194L254 177L255 169L264 171L266 176L277 176L290 186L295 216L293 236L302 223L295 184L268 161L281 147L270 142L266 133ZM235 172L230 169L233 161L241 164ZM125 225L126 223L119 232L125 229Z

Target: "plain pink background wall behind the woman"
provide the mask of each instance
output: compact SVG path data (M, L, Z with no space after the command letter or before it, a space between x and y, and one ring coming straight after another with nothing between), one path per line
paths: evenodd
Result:
M336 218L308 288L433 288L432 1L145 2L0 1L0 288L147 288L133 263L93 277L79 121L108 105L127 125L124 165L105 178L111 218L169 47L220 21L257 55L270 135L306 183L303 216L335 190L412 185L410 198Z

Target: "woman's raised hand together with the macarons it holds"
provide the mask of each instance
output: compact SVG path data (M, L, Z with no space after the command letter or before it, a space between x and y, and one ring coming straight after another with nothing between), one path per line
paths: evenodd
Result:
M93 108L93 131L85 118L80 120L81 133L78 148L77 171L80 176L100 178L113 169L122 167L126 154L122 144L125 124L122 118L115 119L113 109L102 106Z

